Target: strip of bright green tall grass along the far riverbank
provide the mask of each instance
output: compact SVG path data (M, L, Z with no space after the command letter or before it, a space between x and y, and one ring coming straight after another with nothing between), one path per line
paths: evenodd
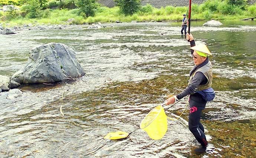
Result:
M161 8L154 8L150 4L142 6L140 10L132 16L125 16L120 13L119 7L98 7L94 17L84 17L79 15L79 9L62 9L62 10L43 10L40 17L36 19L29 19L24 17L18 17L6 21L11 25L34 23L45 24L66 24L68 19L75 19L72 23L111 23L119 20L121 22L131 22L133 20L143 21L168 21L168 20L182 20L183 14L186 14L188 7L173 7L166 6ZM1 16L5 16L6 13L0 13ZM192 4L191 20L240 20L245 17L256 16L256 4L247 6L246 10L243 10L241 6L235 6L234 4L228 4L226 1L208 0L205 3L198 5ZM3 22L2 22L3 23Z

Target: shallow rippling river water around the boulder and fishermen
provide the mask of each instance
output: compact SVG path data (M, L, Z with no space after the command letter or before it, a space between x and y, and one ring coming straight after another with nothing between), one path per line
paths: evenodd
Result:
M213 54L216 98L201 120L209 141L206 153L193 152L198 143L188 129L185 102L166 112L177 118L186 107L180 119L168 120L161 140L142 130L124 141L103 139L109 132L136 129L158 103L186 88L194 66L180 23L121 23L0 35L0 75L12 76L33 47L50 42L74 49L86 72L73 82L23 85L21 97L1 99L0 157L255 157L256 22L203 23L192 22L191 33Z

